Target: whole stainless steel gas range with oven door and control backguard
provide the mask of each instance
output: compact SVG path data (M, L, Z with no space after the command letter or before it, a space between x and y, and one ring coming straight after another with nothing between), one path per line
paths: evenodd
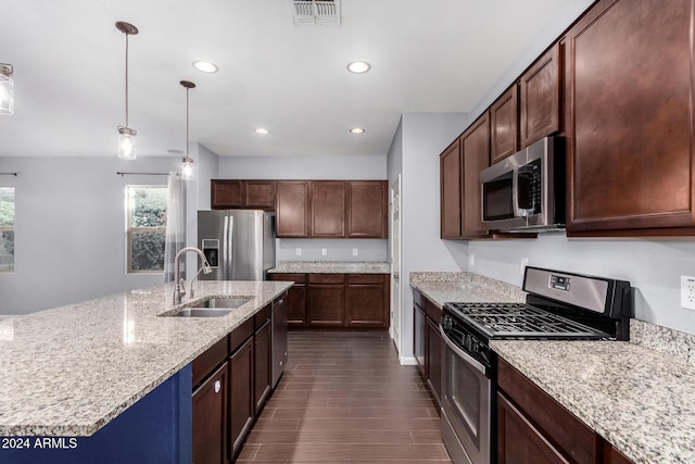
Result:
M630 337L628 281L527 267L523 290L526 303L444 304L442 438L455 464L497 462L497 360L490 340Z

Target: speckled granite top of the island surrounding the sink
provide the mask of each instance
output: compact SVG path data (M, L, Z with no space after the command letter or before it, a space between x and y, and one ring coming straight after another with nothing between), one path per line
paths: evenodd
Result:
M0 436L94 434L290 286L197 283L191 301L253 298L222 317L157 316L163 284L0 321Z

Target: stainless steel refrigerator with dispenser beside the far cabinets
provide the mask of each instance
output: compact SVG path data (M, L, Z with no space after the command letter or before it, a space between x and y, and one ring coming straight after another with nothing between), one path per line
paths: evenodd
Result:
M213 272L204 280L265 280L275 267L275 215L256 210L198 212L198 244Z

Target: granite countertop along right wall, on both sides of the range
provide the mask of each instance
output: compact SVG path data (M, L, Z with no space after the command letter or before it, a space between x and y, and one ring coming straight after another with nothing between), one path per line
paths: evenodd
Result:
M440 309L448 301L520 301L523 293L471 273L412 273L410 286ZM632 462L695 462L695 337L632 319L631 340L490 347Z

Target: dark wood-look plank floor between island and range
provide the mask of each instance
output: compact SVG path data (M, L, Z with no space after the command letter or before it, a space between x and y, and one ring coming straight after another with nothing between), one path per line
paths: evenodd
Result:
M388 334L292 331L288 343L237 463L451 463L431 396Z

